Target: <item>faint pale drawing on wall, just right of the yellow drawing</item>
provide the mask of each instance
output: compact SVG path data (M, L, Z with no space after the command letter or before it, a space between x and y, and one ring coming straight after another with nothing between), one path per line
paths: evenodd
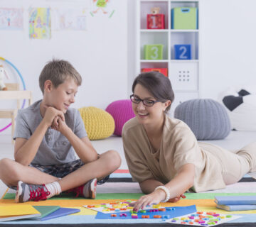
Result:
M54 30L86 30L85 9L54 9Z

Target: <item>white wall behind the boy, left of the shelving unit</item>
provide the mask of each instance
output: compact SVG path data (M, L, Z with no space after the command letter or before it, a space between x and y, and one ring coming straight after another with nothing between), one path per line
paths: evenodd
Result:
M110 0L110 4L114 9L111 18L100 11L90 16L92 0L0 0L1 7L24 10L23 31L0 30L0 56L20 70L27 89L33 92L33 101L41 99L38 76L53 57L70 61L82 75L82 86L73 107L105 109L112 101L127 99L127 0ZM50 40L31 40L28 38L30 6L52 9L85 6L87 31L52 31ZM15 79L16 76L6 82ZM9 122L0 119L0 128Z

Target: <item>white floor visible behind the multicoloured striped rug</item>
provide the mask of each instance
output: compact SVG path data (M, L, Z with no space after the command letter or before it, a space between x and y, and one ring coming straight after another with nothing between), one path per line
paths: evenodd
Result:
M256 141L256 132L238 132L232 131L224 140L208 140L206 143L220 145L228 150L237 150L248 143ZM107 150L117 150L122 157L122 165L120 169L127 169L127 163L122 148L122 138L112 136L104 140L92 141L92 145L97 153L104 153ZM4 157L14 158L14 145L11 144L11 135L1 135L0 133L0 159ZM0 198L6 191L6 185L0 180Z

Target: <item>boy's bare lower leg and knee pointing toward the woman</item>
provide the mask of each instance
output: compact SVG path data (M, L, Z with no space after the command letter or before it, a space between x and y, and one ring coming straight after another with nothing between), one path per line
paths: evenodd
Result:
M82 184L85 184L90 179L101 179L110 173L117 170L121 164L119 154L114 150L109 150L100 155L94 162L89 162L83 165L78 170L71 172L69 175L59 180L61 190L67 191Z

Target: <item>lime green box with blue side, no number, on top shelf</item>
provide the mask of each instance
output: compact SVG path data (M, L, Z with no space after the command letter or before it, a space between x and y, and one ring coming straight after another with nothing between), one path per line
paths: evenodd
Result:
M198 29L198 9L195 7L171 9L171 28Z

